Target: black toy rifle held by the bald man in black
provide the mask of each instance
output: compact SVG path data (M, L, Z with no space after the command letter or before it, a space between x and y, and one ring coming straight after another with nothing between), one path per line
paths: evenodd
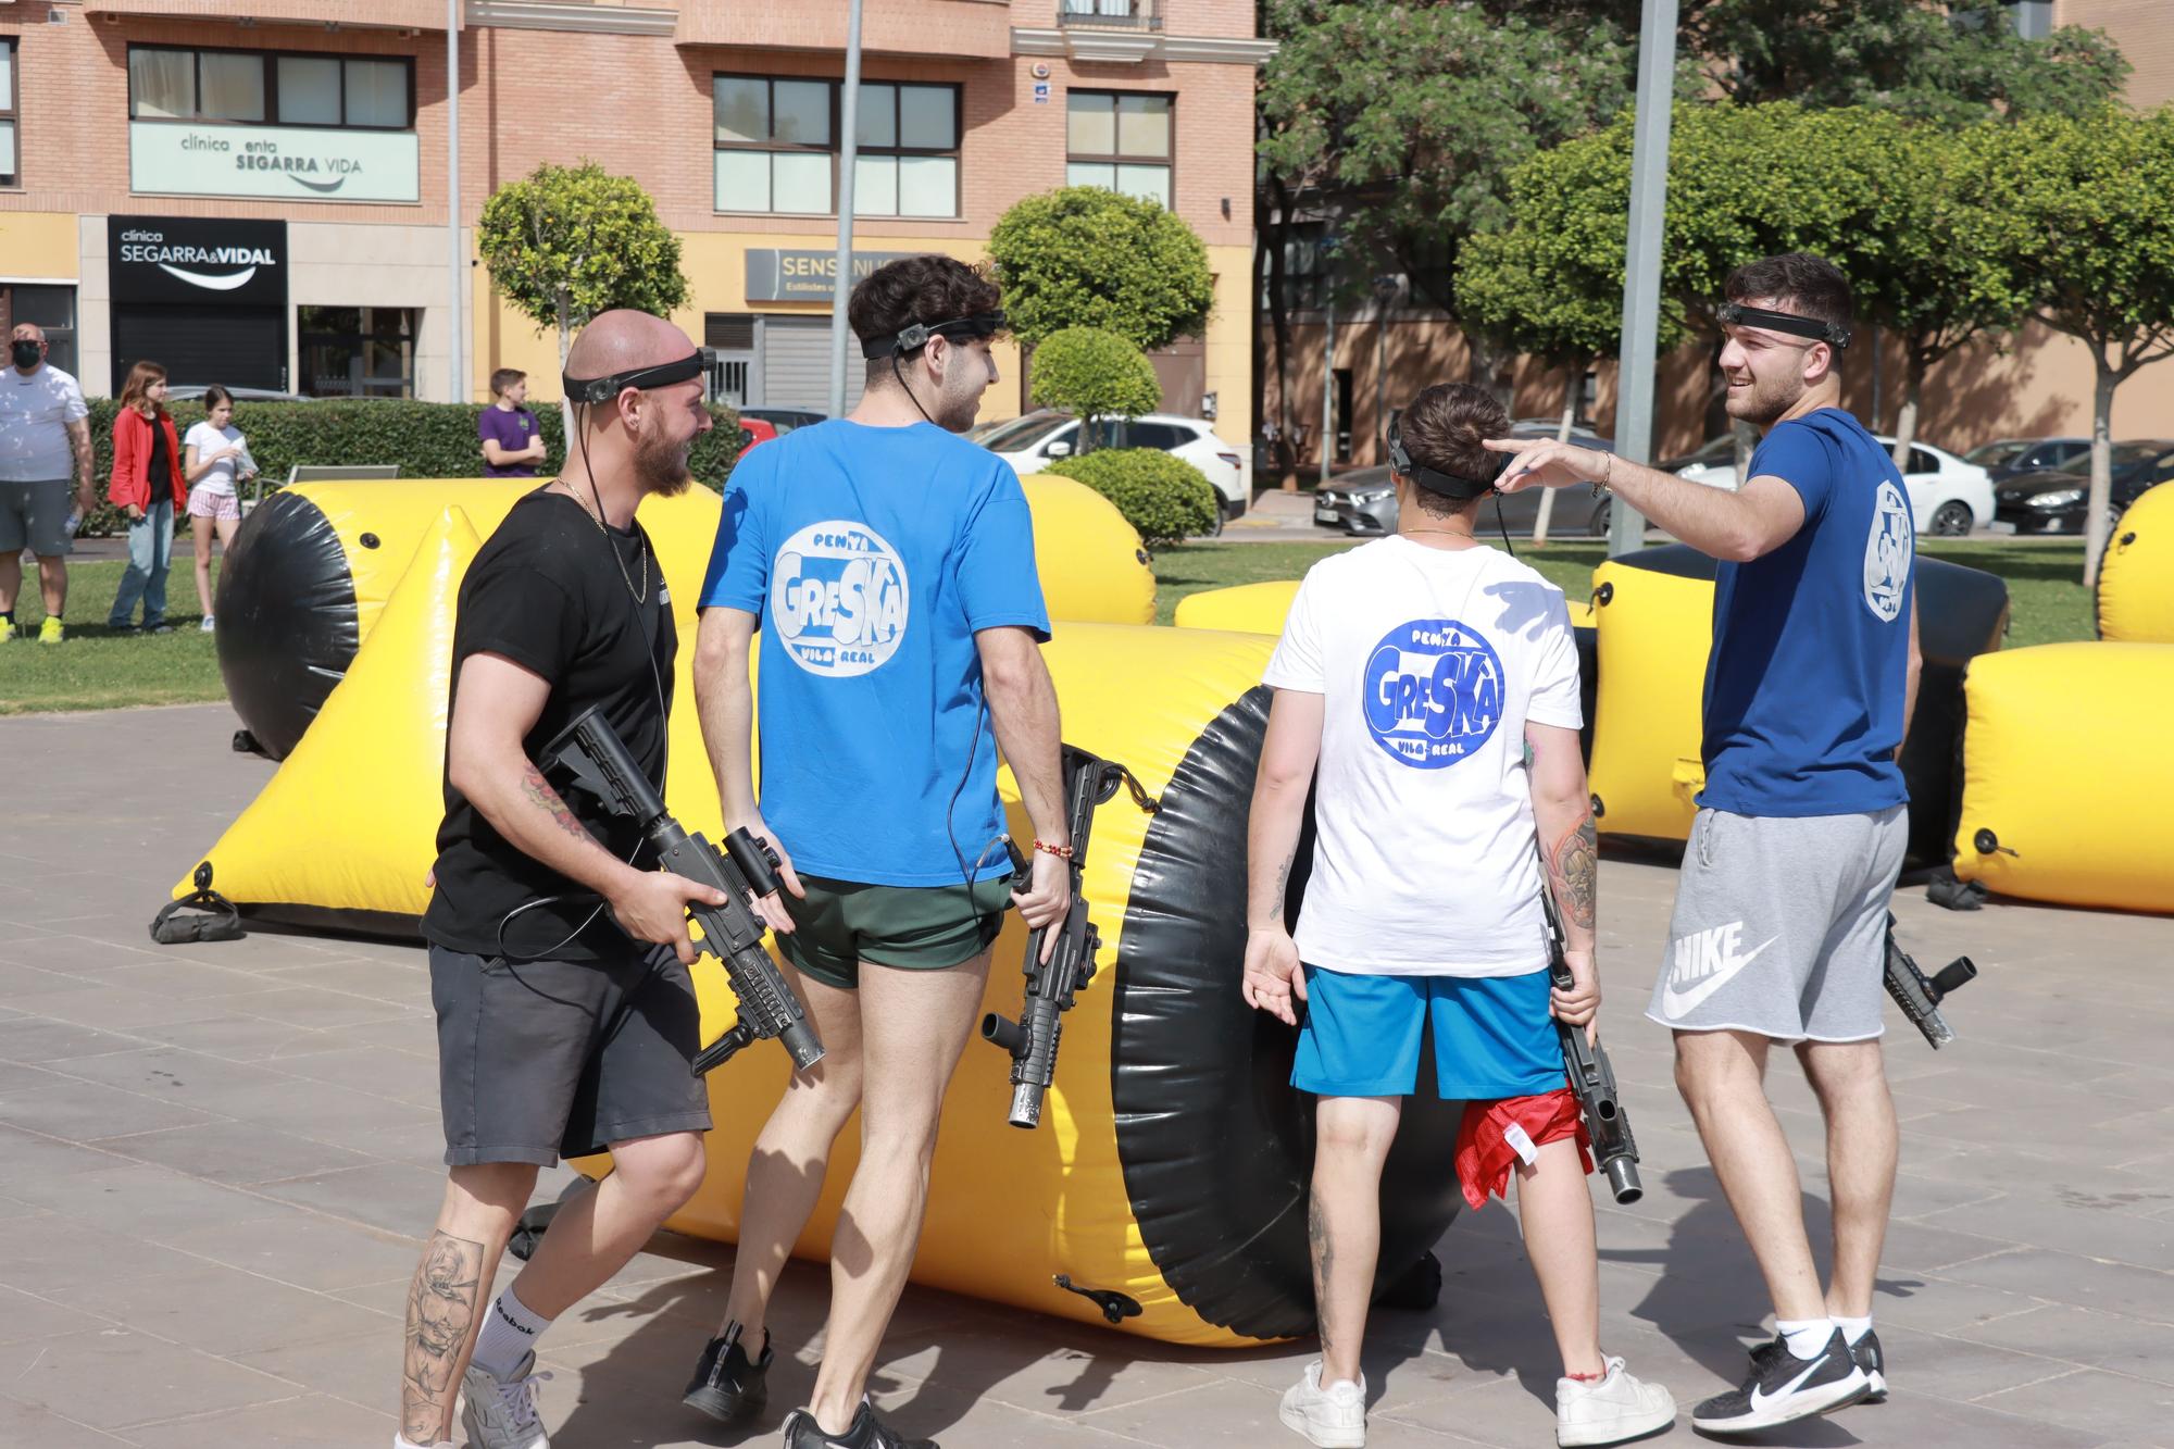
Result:
M770 842L737 829L724 838L720 855L717 846L702 835L689 835L665 812L663 798L626 753L626 746L620 744L602 707L585 709L580 718L559 731L559 738L544 746L539 766L546 775L563 770L607 812L635 820L650 849L657 851L657 864L663 870L724 892L724 905L689 903L687 914L702 927L702 951L724 964L724 977L739 1001L739 1020L702 1049L694 1060L696 1075L724 1066L733 1053L754 1040L783 1042L796 1068L822 1062L824 1046L815 1038L807 1012L800 1010L800 999L785 986L776 962L763 951L765 925L750 905L778 888L778 857Z

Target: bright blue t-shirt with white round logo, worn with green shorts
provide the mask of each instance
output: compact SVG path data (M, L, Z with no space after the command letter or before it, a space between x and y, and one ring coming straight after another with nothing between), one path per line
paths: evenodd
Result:
M928 422L794 429L733 470L713 605L761 616L763 820L794 868L957 883L1004 829L974 631L1050 637L1017 474ZM1011 870L991 855L976 879Z

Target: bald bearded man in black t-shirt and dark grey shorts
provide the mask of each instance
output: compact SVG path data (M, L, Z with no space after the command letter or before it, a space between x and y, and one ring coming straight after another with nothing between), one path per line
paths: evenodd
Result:
M702 1181L687 903L724 896L648 868L624 820L585 796L570 807L533 761L600 705L663 788L676 635L635 505L687 485L711 418L696 348L661 318L596 318L565 368L604 379L609 400L576 405L565 472L491 533L454 624L424 914L450 1181L409 1292L396 1447L441 1445L459 1388L476 1449L548 1449L537 1338ZM607 1147L611 1177L559 1212L489 1301L537 1168Z

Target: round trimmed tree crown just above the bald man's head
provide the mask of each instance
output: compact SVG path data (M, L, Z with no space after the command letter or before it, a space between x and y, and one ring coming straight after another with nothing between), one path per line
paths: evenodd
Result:
M559 366L574 329L613 307L665 315L687 302L678 237L633 176L596 161L544 163L483 202L476 250L491 285L537 331L559 329Z

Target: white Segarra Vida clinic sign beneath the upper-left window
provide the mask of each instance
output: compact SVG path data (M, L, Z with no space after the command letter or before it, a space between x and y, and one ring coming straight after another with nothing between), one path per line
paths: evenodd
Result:
M257 200L415 202L413 131L128 122L128 189Z

